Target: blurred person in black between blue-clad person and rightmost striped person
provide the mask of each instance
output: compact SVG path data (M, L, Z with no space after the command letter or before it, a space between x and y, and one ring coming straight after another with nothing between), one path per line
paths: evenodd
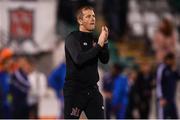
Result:
M148 119L152 98L152 89L155 86L151 64L148 60L140 63L140 70L137 76L137 94L139 96L138 109L141 119Z

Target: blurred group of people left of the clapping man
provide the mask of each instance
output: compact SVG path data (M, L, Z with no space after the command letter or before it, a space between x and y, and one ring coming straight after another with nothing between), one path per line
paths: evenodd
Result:
M48 87L54 89L58 101L63 104L65 71L65 64L62 63L47 78L44 73L37 70L36 61L32 56L16 55L9 48L2 49L0 118L39 118L39 103L45 99ZM59 117L63 117L62 111Z

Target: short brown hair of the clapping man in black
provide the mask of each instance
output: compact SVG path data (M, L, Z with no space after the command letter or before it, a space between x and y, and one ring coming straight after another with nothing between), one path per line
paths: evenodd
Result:
M76 19L77 20L82 19L84 10L93 10L94 11L94 8L92 6L82 6L82 7L80 7L76 12Z

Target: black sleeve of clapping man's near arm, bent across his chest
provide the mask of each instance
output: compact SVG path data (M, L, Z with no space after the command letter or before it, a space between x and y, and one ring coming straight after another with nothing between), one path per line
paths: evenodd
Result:
M102 49L99 44L96 44L95 47L89 49L88 51L82 51L78 38L72 34L67 37L65 41L65 47L70 53L73 61L80 66L88 60L95 58Z

